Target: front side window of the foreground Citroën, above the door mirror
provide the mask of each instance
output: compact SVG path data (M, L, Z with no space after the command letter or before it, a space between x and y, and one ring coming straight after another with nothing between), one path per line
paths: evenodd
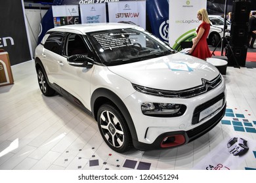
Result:
M87 55L88 50L83 38L77 34L70 34L66 41L66 56Z

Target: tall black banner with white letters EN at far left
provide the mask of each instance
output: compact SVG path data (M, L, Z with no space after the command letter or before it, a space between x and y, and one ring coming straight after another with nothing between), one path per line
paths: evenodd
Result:
M32 59L32 48L22 0L1 1L0 49L9 54L11 65Z

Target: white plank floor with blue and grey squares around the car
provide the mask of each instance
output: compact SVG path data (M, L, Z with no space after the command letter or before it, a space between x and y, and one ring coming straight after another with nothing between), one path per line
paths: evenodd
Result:
M108 148L91 116L41 94L33 61L12 74L14 84L0 87L0 169L189 170L232 135L256 142L256 69L227 68L226 114L209 133L178 148L125 154ZM256 149L236 169L256 169Z

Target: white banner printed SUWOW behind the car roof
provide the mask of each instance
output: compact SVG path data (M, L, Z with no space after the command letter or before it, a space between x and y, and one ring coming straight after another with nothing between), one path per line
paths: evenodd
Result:
M126 22L146 29L146 1L108 3L109 22Z

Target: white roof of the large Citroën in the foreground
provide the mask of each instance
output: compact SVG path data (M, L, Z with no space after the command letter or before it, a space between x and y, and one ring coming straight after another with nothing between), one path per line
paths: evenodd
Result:
M111 30L111 29L125 29L135 28L138 25L123 24L123 23L96 23L96 24L75 24L75 25L63 25L60 27L54 27L49 31L80 31L81 33L89 33L93 31Z

